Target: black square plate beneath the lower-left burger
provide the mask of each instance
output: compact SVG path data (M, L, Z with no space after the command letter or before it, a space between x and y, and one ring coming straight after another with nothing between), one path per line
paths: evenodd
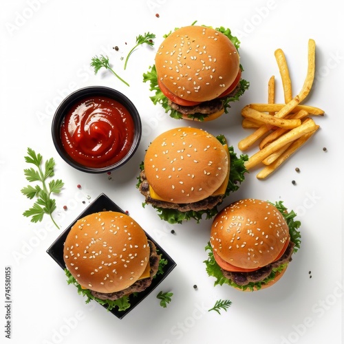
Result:
M56 261L56 263L61 266L61 268L65 269L65 261L63 260L63 246L65 244L65 239L69 233L69 230L71 230L72 226L76 223L78 219L81 217L85 217L86 215L98 213L99 211L118 211L120 213L125 213L122 211L120 207L118 207L114 202L112 202L107 195L104 193L100 194L94 202L89 204L89 206L81 213L75 220L72 222L72 224L69 225L69 227L61 233L61 235L54 241L52 246L47 249L48 255ZM118 319L122 319L125 315L127 315L133 308L138 305L147 295L149 295L166 277L169 275L169 273L175 268L177 264L175 264L175 261L167 255L167 253L146 233L147 238L155 244L156 248L158 249L158 252L161 254L162 259L166 259L168 263L164 266L164 273L161 275L156 275L156 277L153 279L151 286L149 286L146 290L143 292L139 292L136 296L130 295L129 296L129 302L131 304L130 308L124 311L118 311L118 308L113 308L109 312L116 315ZM74 287L75 288L75 287ZM76 288L74 290L76 292ZM76 292L77 294L77 292ZM93 301L93 300L92 300ZM106 305L103 307L106 308Z

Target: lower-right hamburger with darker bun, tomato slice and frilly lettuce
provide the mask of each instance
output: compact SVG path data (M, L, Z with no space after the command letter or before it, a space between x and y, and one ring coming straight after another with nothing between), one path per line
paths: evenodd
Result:
M260 290L282 277L301 243L296 214L261 200L239 200L214 218L205 262L215 286Z

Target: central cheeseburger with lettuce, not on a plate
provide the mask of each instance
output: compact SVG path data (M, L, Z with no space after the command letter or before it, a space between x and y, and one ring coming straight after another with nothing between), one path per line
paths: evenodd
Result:
M224 197L244 180L247 155L237 155L224 136L191 127L160 134L149 145L138 178L146 204L175 224L217 214Z

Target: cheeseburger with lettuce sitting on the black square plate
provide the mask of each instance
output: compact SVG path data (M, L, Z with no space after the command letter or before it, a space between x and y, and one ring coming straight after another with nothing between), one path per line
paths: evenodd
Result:
M102 211L72 226L63 248L68 283L78 292L119 311L130 307L129 295L142 292L162 273L153 241L129 215Z

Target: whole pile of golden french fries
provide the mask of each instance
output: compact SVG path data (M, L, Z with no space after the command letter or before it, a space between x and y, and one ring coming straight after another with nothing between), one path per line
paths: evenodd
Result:
M292 83L286 56L283 50L275 51L279 74L283 87L284 104L275 104L275 76L268 81L268 103L255 103L244 107L242 126L255 131L239 141L238 147L245 151L253 144L259 145L259 151L246 161L250 170L258 164L263 169L257 178L265 179L277 170L292 153L297 151L319 129L310 115L322 116L324 111L308 105L301 105L310 93L315 74L315 42L308 41L308 70L303 87L297 96L292 96Z

